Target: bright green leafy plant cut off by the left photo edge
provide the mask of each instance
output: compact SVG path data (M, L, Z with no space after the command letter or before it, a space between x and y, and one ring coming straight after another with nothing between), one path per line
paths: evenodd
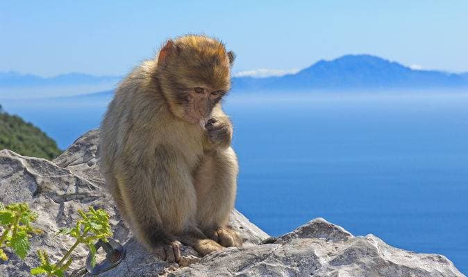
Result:
M29 210L26 203L13 203L4 206L0 203L0 259L8 260L3 248L10 247L19 258L24 259L31 244L29 238L32 233L40 233L39 229L31 226L37 219L37 213Z

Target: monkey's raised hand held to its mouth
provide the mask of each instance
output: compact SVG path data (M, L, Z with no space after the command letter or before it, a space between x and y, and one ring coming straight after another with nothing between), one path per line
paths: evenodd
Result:
M233 139L233 125L229 118L210 118L205 124L208 140L215 148L228 148Z

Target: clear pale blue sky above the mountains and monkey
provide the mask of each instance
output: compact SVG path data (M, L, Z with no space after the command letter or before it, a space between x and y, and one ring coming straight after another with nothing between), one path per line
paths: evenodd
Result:
M166 39L204 33L237 74L346 54L468 71L468 1L1 1L0 71L124 75Z

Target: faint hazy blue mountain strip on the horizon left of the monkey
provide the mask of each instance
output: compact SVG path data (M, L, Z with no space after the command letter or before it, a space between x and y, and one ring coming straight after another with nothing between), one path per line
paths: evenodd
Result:
M78 84L99 84L103 82L118 82L119 76L94 76L83 73L68 73L55 77L43 78L32 74L22 74L15 71L0 72L0 87L49 87L69 86Z

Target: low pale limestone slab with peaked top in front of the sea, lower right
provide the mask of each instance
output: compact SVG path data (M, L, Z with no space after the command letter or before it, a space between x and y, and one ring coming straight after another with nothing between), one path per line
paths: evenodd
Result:
M227 249L167 276L464 276L444 256L396 249L374 235L354 237L317 218L274 244Z

